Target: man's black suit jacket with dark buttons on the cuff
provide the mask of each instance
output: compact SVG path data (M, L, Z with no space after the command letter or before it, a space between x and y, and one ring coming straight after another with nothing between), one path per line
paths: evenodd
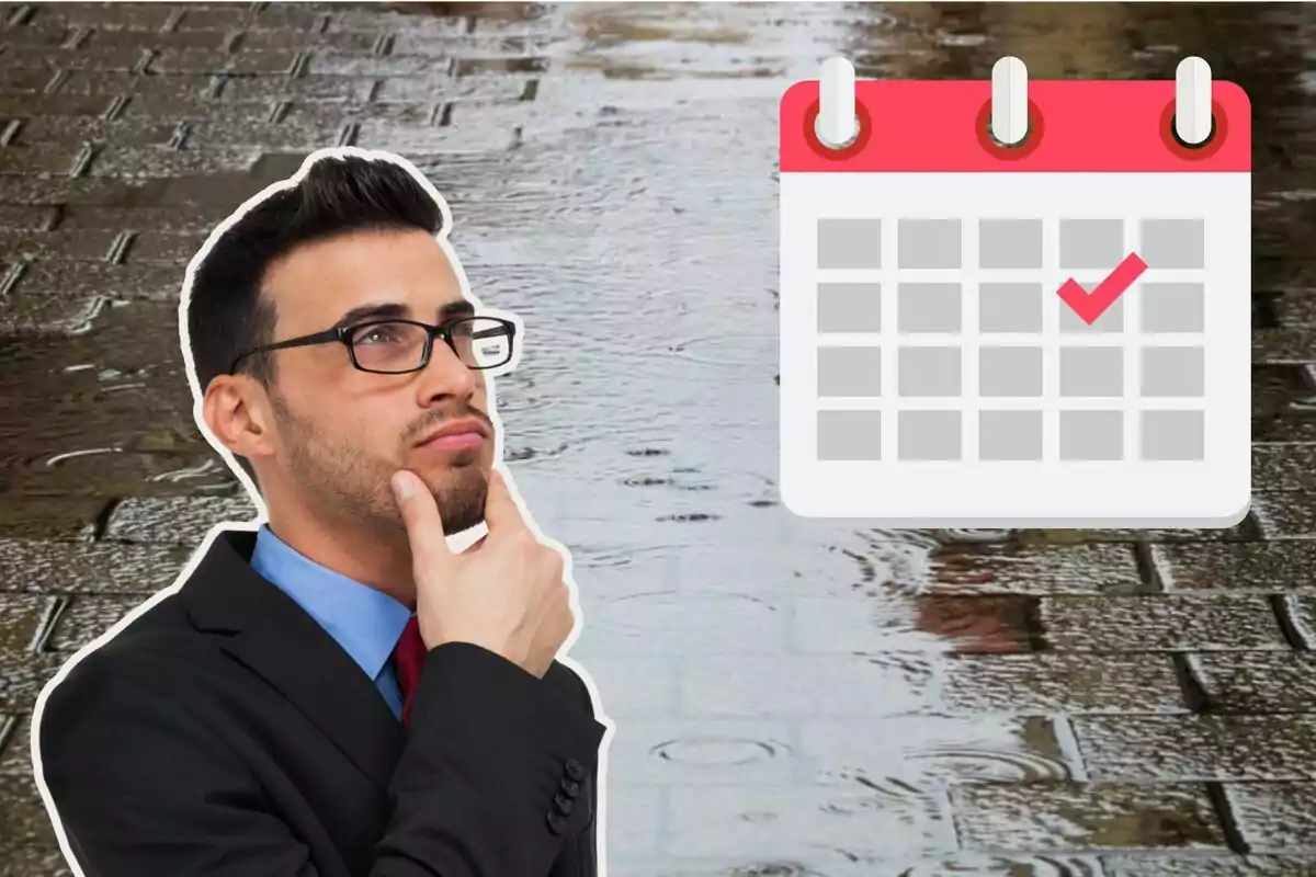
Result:
M443 644L404 730L254 544L218 533L51 689L42 774L87 877L595 876L579 676Z

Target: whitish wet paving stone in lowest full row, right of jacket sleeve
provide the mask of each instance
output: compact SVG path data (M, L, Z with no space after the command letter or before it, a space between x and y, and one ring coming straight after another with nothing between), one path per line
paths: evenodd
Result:
M699 805L680 806L683 799ZM917 857L954 844L954 827L936 801L884 797L859 785L691 788L672 790L671 801L670 831L682 856L753 851L792 860L822 847L857 859Z

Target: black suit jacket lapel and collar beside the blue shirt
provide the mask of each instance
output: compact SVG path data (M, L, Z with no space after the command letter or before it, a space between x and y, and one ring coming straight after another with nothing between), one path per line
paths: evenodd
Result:
M218 533L180 589L199 630L229 634L221 648L278 689L367 776L387 789L401 724L361 667L249 560L255 534Z

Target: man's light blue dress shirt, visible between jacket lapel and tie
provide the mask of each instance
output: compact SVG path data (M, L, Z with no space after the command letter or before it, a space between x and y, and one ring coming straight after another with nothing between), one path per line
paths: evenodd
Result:
M251 569L292 597L342 646L401 721L403 697L393 673L393 648L411 610L382 590L321 567L262 525Z

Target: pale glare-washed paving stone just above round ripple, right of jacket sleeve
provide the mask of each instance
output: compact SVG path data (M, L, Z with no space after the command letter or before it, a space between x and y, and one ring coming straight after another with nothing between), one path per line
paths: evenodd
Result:
M591 664L592 668L592 664ZM709 656L684 664L686 715L888 715L936 706L923 655Z

